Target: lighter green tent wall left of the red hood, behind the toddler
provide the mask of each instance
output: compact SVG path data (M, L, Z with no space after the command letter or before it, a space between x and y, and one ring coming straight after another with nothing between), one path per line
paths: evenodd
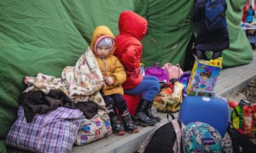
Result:
M60 77L85 53L98 25L117 35L121 11L134 8L133 0L0 1L0 138L15 122L25 76Z

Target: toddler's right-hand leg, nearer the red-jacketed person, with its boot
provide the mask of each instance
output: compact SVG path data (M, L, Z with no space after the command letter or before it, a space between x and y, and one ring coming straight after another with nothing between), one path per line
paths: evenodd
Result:
M114 99L115 106L118 109L119 115L123 121L125 126L125 130L129 133L138 132L138 127L132 122L131 115L128 111L128 107L126 105L126 100L121 94L116 93L111 95L112 99Z

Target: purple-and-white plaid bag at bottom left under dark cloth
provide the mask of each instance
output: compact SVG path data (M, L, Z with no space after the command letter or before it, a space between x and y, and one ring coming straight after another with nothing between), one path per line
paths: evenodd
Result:
M18 119L5 138L6 145L32 152L71 152L72 145L85 116L79 109L58 109L25 119L24 109L18 108Z

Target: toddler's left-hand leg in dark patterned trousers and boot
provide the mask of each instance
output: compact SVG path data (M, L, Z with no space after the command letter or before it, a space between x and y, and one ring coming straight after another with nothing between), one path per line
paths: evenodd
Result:
M125 129L121 124L117 113L115 112L115 102L111 96L103 96L106 107L108 109L108 116L110 117L111 126L115 135L125 135Z

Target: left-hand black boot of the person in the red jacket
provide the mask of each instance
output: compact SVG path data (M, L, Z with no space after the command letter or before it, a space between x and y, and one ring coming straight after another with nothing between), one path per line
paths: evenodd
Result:
M149 126L155 125L157 123L155 119L149 119L148 116L146 116L146 112L150 103L151 102L146 99L141 99L140 103L138 104L135 116L133 116L135 125Z

